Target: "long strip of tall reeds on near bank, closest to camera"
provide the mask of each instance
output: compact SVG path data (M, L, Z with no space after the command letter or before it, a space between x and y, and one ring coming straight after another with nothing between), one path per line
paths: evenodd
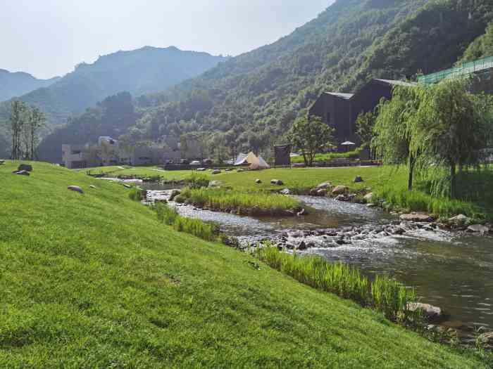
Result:
M256 247L252 253L301 283L381 311L392 321L411 323L420 318L419 311L408 310L408 304L416 302L416 290L387 276L377 276L370 281L358 269L346 264L331 264L316 256L299 257L276 247Z

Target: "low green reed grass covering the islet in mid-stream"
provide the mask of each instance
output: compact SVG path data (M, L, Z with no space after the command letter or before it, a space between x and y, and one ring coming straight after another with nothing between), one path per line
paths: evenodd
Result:
M298 200L277 193L242 193L216 188L185 188L181 196L197 207L211 207L222 211L233 210L239 214L275 215L301 207Z

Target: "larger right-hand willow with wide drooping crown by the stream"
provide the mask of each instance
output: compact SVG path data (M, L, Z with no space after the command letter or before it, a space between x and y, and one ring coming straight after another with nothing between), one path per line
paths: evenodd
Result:
M450 197L456 197L457 167L477 166L489 136L491 104L470 93L470 84L452 79L428 88L414 119L411 155L423 166L449 168Z

